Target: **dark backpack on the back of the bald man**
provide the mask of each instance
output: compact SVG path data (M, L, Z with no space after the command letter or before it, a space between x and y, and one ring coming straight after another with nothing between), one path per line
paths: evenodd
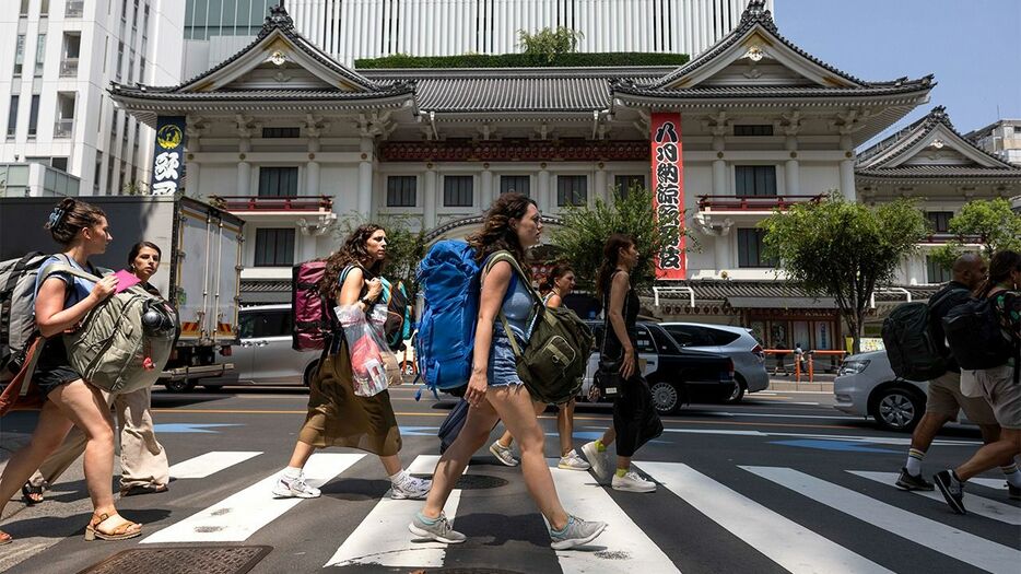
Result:
M931 309L960 289L948 289L929 303L902 303L883 321L883 347L890 367L908 380L932 380L947 373L942 341L932 335ZM957 354L954 354L957 356Z

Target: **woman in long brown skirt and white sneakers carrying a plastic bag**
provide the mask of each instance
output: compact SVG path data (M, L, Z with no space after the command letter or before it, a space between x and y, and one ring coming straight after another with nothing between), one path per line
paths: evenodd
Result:
M375 224L361 225L343 247L327 260L319 284L324 298L336 305L359 305L369 313L380 302L379 279L386 260L386 231ZM344 270L347 269L347 272ZM305 462L316 448L352 447L379 456L390 479L390 497L422 499L431 481L411 476L398 457L401 447L397 417L387 390L372 397L354 394L351 356L343 331L327 341L318 371L312 377L308 414L298 433L287 468L273 485L277 497L315 499L321 492L305 482Z

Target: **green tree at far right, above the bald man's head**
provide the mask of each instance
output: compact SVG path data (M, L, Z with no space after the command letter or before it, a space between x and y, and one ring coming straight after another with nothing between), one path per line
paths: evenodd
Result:
M964 251L974 251L975 244L986 259L1001 249L1021 251L1021 213L1004 198L969 201L950 219L949 232L953 237L929 254L943 269L953 267Z

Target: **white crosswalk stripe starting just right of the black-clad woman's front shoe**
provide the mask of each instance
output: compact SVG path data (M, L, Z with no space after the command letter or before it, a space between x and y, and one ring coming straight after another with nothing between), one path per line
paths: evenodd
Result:
M688 465L637 465L667 490L790 572L890 572ZM777 532L783 532L783 536L777 536Z

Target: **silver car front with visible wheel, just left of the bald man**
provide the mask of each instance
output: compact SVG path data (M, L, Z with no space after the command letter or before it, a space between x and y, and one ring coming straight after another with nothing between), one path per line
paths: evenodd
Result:
M834 407L871 417L883 429L912 431L925 414L927 382L897 377L887 351L853 354L841 363L833 380Z

